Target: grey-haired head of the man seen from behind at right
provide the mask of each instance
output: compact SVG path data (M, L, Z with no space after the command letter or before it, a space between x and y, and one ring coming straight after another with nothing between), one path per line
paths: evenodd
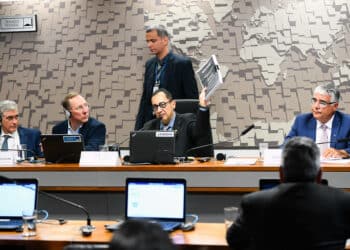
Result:
M320 150L307 137L293 137L283 148L282 165L285 182L313 182L320 169Z

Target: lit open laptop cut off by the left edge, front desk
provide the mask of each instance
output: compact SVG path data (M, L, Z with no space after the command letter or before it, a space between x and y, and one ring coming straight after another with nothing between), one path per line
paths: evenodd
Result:
M0 179L0 230L22 227L22 211L37 206L37 179Z

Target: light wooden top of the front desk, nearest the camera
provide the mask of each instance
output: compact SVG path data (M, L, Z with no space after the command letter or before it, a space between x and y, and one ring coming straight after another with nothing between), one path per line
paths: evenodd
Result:
M50 224L47 224L50 223ZM21 233L0 232L0 248L5 246L23 246L26 250L62 250L70 243L108 243L112 233L105 230L105 224L113 221L93 221L96 230L91 236L83 237L79 228L86 221L68 221L58 225L57 221L47 221L38 224L37 235L25 238ZM177 230L171 233L171 238L180 249L228 249L225 240L225 225L223 223L198 223L191 232Z

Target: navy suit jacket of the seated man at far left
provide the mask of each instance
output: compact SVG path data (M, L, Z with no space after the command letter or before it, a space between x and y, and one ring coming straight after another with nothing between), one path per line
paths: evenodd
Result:
M1 136L1 128L0 128L0 136ZM24 128L19 126L17 128L17 132L19 135L19 141L21 144L26 144L27 149L33 151L36 157L43 157L43 152L41 151L40 146L40 135L41 132L38 129L33 128ZM27 157L34 156L32 152L27 151Z

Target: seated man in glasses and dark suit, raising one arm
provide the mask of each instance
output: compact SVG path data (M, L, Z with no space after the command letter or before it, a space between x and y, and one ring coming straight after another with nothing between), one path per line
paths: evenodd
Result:
M157 118L145 123L142 130L176 130L175 156L214 155L205 89L199 95L197 115L176 113L176 102L166 89L155 91L151 101ZM203 147L200 147L201 145ZM194 147L198 148L194 149Z

